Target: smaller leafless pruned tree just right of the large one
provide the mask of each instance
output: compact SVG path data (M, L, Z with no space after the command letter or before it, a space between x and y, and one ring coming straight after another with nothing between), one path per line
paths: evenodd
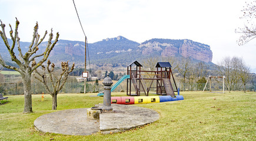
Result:
M32 65L36 65L35 61L32 63ZM74 70L75 63L73 63L71 68L69 68L68 62L61 62L62 73L59 76L54 75L54 63L52 63L51 68L50 65L51 61L48 60L46 68L44 65L42 65L42 72L35 69L34 77L40 82L44 83L44 88L52 96L52 110L56 110L57 95L68 79L68 74ZM50 83L50 85L48 85L48 83ZM52 89L50 89L49 86Z

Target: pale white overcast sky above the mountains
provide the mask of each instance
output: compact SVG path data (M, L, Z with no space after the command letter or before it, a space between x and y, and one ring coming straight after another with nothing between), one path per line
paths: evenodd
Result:
M245 1L75 0L75 4L89 43L119 35L139 43L152 38L191 39L211 46L212 62L239 56L256 72L256 39L244 46L236 43L240 35L235 29L245 22L240 19ZM59 39L85 40L72 0L0 0L2 22L14 27L15 17L21 41L31 42L36 21L41 36L52 28Z

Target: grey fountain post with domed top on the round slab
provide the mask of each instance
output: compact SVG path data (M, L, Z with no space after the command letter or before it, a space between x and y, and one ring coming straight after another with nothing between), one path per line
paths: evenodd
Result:
M107 78L103 80L104 85L104 100L103 100L103 106L102 111L112 111L113 108L111 107L111 85L113 84L112 79L109 78L107 75Z

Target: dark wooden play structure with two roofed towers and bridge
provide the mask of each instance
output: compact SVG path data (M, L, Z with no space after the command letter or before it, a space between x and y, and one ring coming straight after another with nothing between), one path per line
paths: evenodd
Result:
M158 62L155 68L156 71L141 70L142 65L138 61L134 61L127 66L127 95L129 96L148 96L149 90L153 87L152 84L156 80L157 95L170 95L175 96L177 86L172 75L171 64L169 62ZM148 76L148 77L145 77ZM152 80L151 85L145 88L145 80ZM175 90L172 87L174 83ZM131 86L134 86L135 93L131 93Z

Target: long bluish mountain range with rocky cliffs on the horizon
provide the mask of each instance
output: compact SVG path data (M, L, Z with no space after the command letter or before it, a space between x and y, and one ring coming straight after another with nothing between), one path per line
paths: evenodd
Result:
M11 40L9 40L11 43ZM42 42L37 53L42 53L47 42ZM22 52L28 50L29 42L21 42ZM147 56L178 56L190 57L198 61L211 62L212 51L210 46L194 42L188 39L150 39L143 43L130 41L123 36L107 38L95 43L88 43L87 56L92 64L102 66L104 63L112 63L114 66L126 66L129 62L147 58ZM0 39L0 52L2 58L11 61L9 53ZM18 54L18 50L15 50ZM59 40L49 59L51 62L62 61L75 62L79 67L84 65L85 42ZM18 56L17 56L18 57ZM88 60L88 59L87 59Z

